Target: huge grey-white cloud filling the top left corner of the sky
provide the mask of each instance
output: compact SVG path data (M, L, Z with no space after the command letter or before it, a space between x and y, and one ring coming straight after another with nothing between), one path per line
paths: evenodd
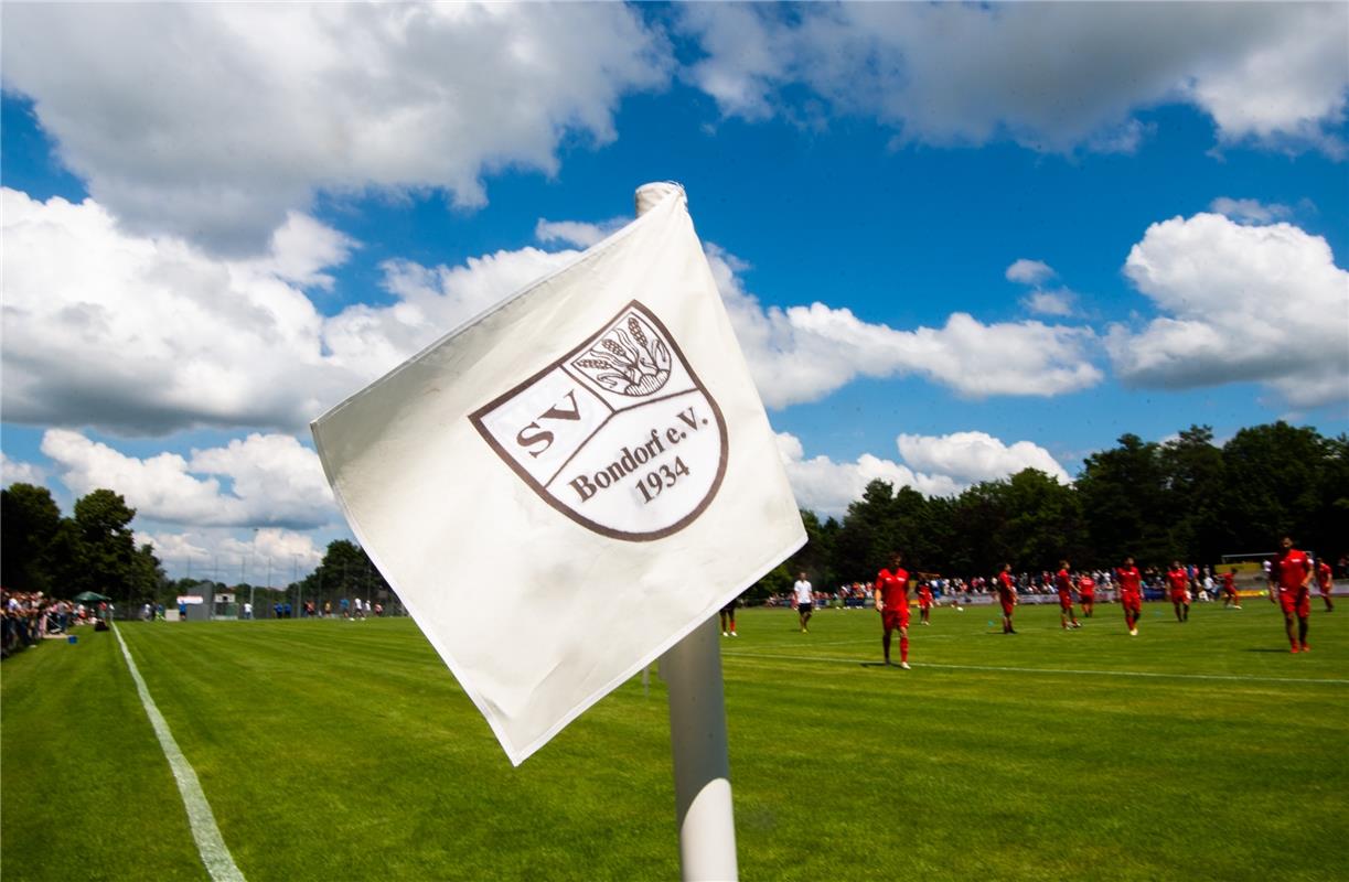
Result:
M128 229L254 254L318 192L442 187L611 142L669 47L621 4L20 4L7 92Z

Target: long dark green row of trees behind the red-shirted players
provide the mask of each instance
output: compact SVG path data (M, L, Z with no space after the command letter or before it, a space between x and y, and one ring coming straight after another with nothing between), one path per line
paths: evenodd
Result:
M803 511L808 541L751 595L781 593L805 570L816 587L870 581L892 550L911 570L992 576L1016 570L1217 564L1272 552L1279 535L1321 557L1349 550L1349 437L1286 422L1240 430L1222 446L1190 426L1161 444L1121 436L1071 484L1025 469L958 496L924 498L874 480L842 522Z

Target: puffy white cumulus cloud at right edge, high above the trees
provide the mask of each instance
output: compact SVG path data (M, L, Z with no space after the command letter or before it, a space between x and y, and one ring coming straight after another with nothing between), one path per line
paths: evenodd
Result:
M1161 313L1140 330L1110 328L1126 383L1253 380L1295 407L1349 401L1349 272L1325 239L1286 223L1175 217L1148 228L1124 271Z

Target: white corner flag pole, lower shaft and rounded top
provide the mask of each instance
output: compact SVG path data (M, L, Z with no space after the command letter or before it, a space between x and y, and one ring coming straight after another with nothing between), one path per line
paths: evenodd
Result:
M638 187L637 214L653 208L677 186L646 183ZM669 688L674 808L684 882L734 882L739 878L718 635L714 616L661 657L661 677Z

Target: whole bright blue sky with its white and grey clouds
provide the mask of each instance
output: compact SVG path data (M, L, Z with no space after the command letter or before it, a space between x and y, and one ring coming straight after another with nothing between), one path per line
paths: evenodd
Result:
M1125 432L1346 432L1346 30L1344 4L11 7L5 484L123 492L175 576L306 572L347 535L308 422L657 179L823 514L873 477L1070 480Z

